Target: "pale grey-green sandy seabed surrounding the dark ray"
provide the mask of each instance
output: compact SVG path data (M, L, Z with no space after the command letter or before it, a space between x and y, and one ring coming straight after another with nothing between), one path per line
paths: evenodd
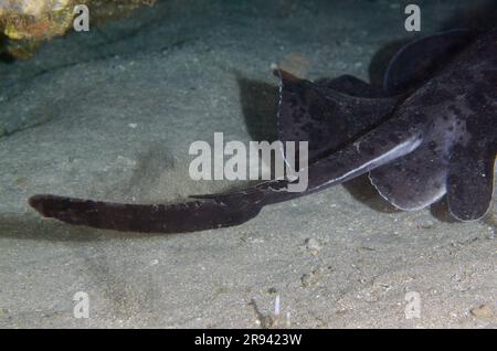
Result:
M468 3L421 1L423 33ZM272 63L374 79L378 51L413 35L403 6L160 1L0 63L0 327L497 327L495 209L475 223L450 221L443 204L398 212L359 179L237 227L142 235L68 226L27 204L232 187L190 180L189 145L215 131L274 138ZM73 316L77 291L88 319ZM413 297L420 318L405 315Z

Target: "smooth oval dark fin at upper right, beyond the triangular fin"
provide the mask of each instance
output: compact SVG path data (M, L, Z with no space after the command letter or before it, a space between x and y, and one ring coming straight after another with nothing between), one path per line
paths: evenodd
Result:
M410 42L390 62L383 77L383 88L391 94L400 94L426 81L473 38L472 31L461 29Z

